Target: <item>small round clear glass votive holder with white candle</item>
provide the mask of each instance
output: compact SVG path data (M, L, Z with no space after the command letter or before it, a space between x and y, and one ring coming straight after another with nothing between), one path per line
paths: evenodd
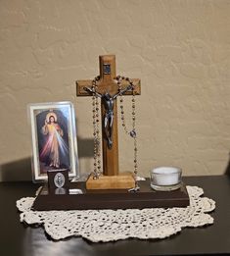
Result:
M155 190L170 191L181 186L182 170L177 167L158 167L150 171L151 187Z

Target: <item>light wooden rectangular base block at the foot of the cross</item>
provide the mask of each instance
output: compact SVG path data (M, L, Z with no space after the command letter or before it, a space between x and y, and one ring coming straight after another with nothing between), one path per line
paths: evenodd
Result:
M118 176L100 176L93 179L90 175L86 181L87 189L128 189L135 186L135 179L131 173L121 173Z

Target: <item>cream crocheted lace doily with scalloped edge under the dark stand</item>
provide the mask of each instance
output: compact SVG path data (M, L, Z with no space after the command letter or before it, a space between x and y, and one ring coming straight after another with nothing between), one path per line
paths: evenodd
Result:
M71 210L31 211L34 197L17 201L22 212L21 222L43 225L54 239L71 235L82 236L93 242L107 242L128 237L140 239L164 238L185 227L201 227L213 223L207 213L215 202L201 197L204 191L197 186L187 186L190 206L186 208L151 208L127 210Z

